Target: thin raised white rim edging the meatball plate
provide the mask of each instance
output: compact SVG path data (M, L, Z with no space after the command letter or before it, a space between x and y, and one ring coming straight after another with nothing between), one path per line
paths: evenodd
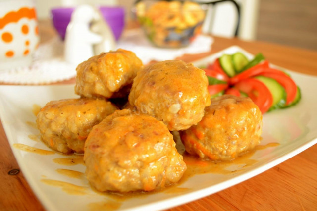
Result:
M195 61L192 61L191 63L195 64L195 63L198 63L200 61L207 60L208 58L215 57L217 54L229 51L231 49L239 49L242 52L246 52L248 54L253 55L252 53L249 53L249 52L245 51L241 47L234 45L234 46L230 46L230 47L228 47L228 48L226 48L226 49L224 49L222 51L219 51L217 53L213 53L213 54L211 54L209 56L206 56L206 57L197 59ZM300 75L305 75L305 76L310 76L311 77L311 75L298 73L298 72L295 72L295 71L292 71L292 70L289 70L289 69L287 69L287 71L291 71L291 72L294 72L296 74L300 74ZM317 77L315 77L315 78L317 79ZM74 85L73 84L64 84L64 85L41 85L41 86L42 87L51 87L51 86L72 87ZM0 92L1 92L2 89L5 89L6 87L36 87L36 88L39 88L41 86L1 85L0 86ZM2 110L5 110L5 107L4 107L4 103L2 101L3 101L3 99L0 99L0 119L2 121L2 126L3 126L4 132L6 134L8 143L10 145L10 148L11 148L12 152L13 152L14 158L16 159L16 161L17 161L17 163L19 165L19 168L21 169L21 171L22 171L27 183L29 184L31 190L36 195L37 199L42 204L42 206L45 207L45 209L47 209L47 210L52 210L52 209L53 210L57 210L57 208L54 207L53 202L50 199L48 199L47 197L45 197L46 196L45 194L42 194L44 191L39 188L39 186L37 185L37 182L35 181L35 178L31 175L31 172L27 169L27 166L25 164L23 164L22 156L18 153L18 150L13 147L13 143L14 142L12 142L12 140L11 140L11 139L13 139L11 137L12 136L11 129L9 128L9 125L3 123L4 114L3 114ZM268 162L268 163L266 163L264 165L261 165L258 168L255 168L255 169L252 169L250 171L244 172L241 175L237 175L237 176L235 176L233 178L230 178L230 179L225 180L223 182L217 183L215 185L212 185L212 186L209 186L209 187L206 187L206 188L202 188L202 189L199 189L199 190L196 190L196 191L191 191L189 193L185 193L185 194L182 194L182 195L179 195L179 196L171 197L169 199L160 200L158 202L154 202L154 203L150 203L150 204L140 205L138 207L132 207L132 208L128 208L128 209L125 209L125 210L134 211L134 210L143 210L143 209L151 209L151 210L168 209L168 208L180 206L180 205L183 205L185 203L189 203L189 202L204 198L204 197L206 197L208 195L217 193L217 192L222 191L222 190L224 190L226 188L229 188L229 187L234 186L236 184L239 184L239 183L241 183L243 181L246 181L246 180L248 180L248 179L250 179L250 178L252 178L252 177L254 177L256 175L259 175L260 173L263 173L264 171L266 171L266 170L268 170L268 169L270 169L270 168L272 168L272 167L274 167L274 166L286 161L287 159L298 155L299 153L301 153L304 150L308 149L309 147L315 145L316 143L317 143L317 137L313 138L310 141L307 141L306 143L302 144L300 147L294 149L291 152L286 153L285 155L281 156L280 158L274 159L273 161L270 161L270 162ZM241 179L241 178L243 178L243 179ZM237 180L237 182L233 182L232 183L232 181L235 181L235 180ZM221 186L221 188L218 188L216 191L211 191L211 189L214 189L214 186ZM211 193L207 193L209 191L211 191ZM180 200L180 199L183 199L184 196L186 196L187 198L190 198L190 200L185 200L185 201L184 200ZM172 204L172 205L170 205L170 204ZM121 210L121 209L119 208L119 210Z

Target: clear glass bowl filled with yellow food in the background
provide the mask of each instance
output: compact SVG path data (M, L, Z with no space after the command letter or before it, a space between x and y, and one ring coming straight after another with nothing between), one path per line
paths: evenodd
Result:
M207 5L192 1L141 0L134 8L147 38L157 47L188 46L202 31Z

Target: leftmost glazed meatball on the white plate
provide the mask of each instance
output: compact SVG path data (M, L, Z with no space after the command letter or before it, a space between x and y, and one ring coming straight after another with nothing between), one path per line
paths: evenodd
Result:
M65 99L51 101L39 111L36 123L42 140L61 153L84 152L84 143L95 124L116 106L105 100Z

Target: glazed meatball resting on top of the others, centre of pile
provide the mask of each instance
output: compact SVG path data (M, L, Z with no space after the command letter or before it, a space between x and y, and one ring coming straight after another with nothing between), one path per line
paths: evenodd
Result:
M185 130L204 116L211 103L205 72L181 60L152 64L133 80L129 102L163 121L169 130Z

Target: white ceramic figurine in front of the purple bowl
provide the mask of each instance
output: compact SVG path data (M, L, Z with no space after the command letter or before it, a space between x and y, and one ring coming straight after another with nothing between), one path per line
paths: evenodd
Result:
M90 5L78 6L66 30L65 60L77 65L114 48L113 33L100 12Z

